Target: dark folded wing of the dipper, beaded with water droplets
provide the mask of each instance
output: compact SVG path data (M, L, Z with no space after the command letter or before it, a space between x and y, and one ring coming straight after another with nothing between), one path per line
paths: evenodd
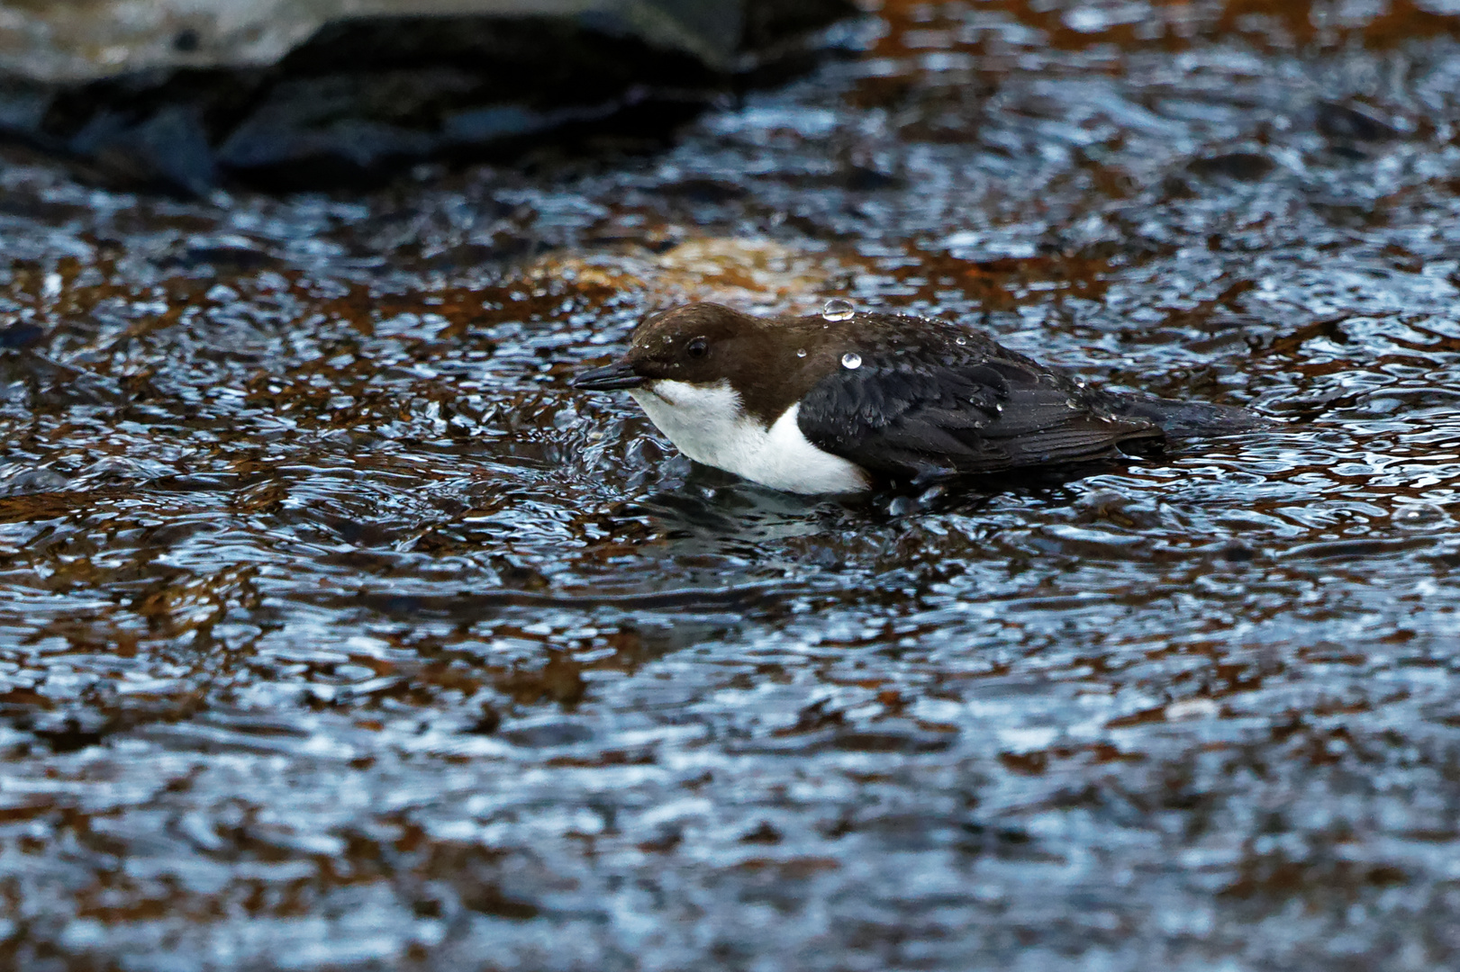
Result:
M802 400L797 425L818 448L892 476L1057 466L1108 455L1127 439L1159 439L1143 416L1118 416L1108 396L986 339L939 330L917 344L889 340L838 368ZM914 334L904 333L912 339Z

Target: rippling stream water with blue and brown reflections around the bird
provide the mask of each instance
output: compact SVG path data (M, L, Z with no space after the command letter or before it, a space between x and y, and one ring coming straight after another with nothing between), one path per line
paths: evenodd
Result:
M1460 959L1460 19L1047 6L366 196L12 159L0 965ZM838 504L569 388L834 296L1285 428Z

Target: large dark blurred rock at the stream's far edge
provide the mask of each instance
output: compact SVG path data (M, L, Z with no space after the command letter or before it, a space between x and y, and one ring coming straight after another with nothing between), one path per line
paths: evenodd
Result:
M206 193L661 136L850 0L0 0L0 139Z

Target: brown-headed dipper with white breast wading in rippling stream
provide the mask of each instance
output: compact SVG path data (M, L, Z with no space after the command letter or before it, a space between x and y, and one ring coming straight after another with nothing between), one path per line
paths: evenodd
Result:
M977 331L847 302L774 318L673 308L574 384L625 390L689 458L794 493L1077 464L1264 425L1228 406L1091 388Z

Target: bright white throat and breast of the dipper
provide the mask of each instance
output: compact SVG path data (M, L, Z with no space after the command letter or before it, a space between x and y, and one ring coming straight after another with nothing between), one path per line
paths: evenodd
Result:
M796 425L793 404L765 428L745 413L740 396L721 381L692 385L656 381L629 394L680 452L736 476L791 493L850 493L867 487L854 464L812 445Z

